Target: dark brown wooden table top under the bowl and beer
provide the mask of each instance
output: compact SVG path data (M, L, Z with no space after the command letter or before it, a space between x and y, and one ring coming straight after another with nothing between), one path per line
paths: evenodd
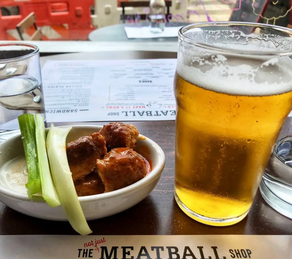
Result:
M114 58L162 58L166 53L157 55L149 52L91 53L88 59ZM176 53L168 53L173 58ZM84 53L65 54L42 58L46 59L85 59ZM86 124L104 125L108 122ZM177 206L174 196L174 139L175 121L125 121L137 127L162 148L166 164L159 183L143 201L119 214L88 221L93 235L195 235L195 234L263 234L291 235L292 220L274 211L258 192L250 212L241 222L228 227L213 227L198 223L189 218ZM81 123L74 123L81 124ZM65 124L56 124L65 125ZM0 234L77 234L69 223L32 218L18 213L0 203Z

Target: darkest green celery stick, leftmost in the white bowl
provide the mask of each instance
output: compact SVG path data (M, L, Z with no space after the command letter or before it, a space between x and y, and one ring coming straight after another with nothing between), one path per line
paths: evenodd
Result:
M22 114L18 117L19 128L27 163L28 182L25 185L29 199L41 192L41 178L38 168L36 151L35 122L32 114Z

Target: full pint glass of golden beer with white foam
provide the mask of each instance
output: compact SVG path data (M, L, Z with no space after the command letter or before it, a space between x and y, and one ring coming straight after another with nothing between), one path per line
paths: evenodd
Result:
M292 109L292 30L203 22L178 34L175 199L201 223L232 225Z

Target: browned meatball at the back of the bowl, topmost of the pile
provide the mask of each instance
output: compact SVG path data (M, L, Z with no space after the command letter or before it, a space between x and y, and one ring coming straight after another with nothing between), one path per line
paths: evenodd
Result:
M135 126L122 122L109 123L99 133L104 136L108 151L116 147L135 147L139 135Z

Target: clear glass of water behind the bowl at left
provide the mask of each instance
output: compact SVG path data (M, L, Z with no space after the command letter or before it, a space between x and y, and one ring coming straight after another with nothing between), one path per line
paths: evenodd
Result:
M45 116L39 48L0 44L0 140L19 133L17 118L23 113Z

